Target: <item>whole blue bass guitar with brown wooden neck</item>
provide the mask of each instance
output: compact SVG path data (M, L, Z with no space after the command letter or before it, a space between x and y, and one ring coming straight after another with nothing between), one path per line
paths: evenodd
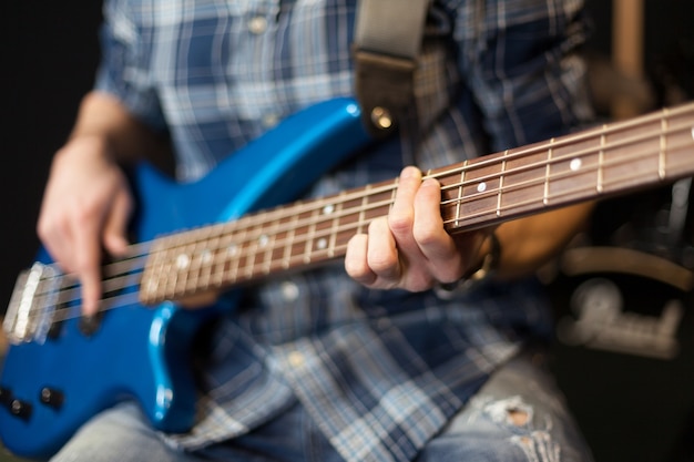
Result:
M358 105L338 99L287 119L200 182L175 184L139 167L141 244L104 265L98 322L81 321L78 281L45 255L20 275L3 325L11 342L0 379L4 445L50 456L89 418L132 399L155 428L188 430L195 390L185 365L210 311L171 300L343 257L355 233L388 213L396 179L277 204L369 142ZM694 175L693 151L688 104L426 176L441 183L445 228L458 233Z

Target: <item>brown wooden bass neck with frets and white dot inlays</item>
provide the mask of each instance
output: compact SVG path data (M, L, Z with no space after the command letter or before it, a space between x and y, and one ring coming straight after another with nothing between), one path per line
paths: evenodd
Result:
M427 172L450 234L694 175L694 104ZM144 304L248 284L344 257L387 215L397 179L154 240Z

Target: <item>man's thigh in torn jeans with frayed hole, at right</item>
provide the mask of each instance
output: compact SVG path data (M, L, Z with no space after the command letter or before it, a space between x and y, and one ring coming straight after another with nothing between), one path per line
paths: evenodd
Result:
M551 376L522 355L497 371L422 451L427 461L592 461Z

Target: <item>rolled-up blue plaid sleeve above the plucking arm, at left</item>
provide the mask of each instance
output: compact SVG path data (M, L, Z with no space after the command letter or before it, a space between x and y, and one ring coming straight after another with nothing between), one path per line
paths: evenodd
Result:
M106 0L100 30L101 62L94 89L115 96L136 119L166 129L150 72L152 40L143 38L136 9L129 0Z

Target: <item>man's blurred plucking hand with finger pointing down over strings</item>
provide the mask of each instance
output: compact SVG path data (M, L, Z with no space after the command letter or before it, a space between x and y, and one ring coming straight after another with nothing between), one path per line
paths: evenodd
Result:
M127 182L103 137L72 138L53 160L38 233L65 273L82 283L82 311L99 309L103 249L121 255L133 206Z

